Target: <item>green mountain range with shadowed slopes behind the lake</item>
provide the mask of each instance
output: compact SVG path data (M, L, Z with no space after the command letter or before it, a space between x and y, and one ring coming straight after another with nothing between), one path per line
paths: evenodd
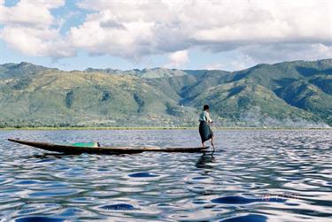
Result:
M249 69L0 65L0 126L332 126L332 59Z

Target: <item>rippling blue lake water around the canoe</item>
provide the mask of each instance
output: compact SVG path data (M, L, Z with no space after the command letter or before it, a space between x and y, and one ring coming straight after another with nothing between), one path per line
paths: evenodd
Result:
M200 142L197 130L0 131L1 221L332 221L331 130L214 133L214 153L107 156L6 139Z

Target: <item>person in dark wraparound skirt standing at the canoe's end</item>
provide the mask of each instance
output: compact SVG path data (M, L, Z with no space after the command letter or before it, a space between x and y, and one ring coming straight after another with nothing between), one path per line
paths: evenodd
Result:
M202 139L202 147L205 147L205 141L210 140L212 148L214 149L213 145L213 132L209 124L212 123L212 119L210 118L210 107L205 105L203 107L203 112L199 115L199 134Z

